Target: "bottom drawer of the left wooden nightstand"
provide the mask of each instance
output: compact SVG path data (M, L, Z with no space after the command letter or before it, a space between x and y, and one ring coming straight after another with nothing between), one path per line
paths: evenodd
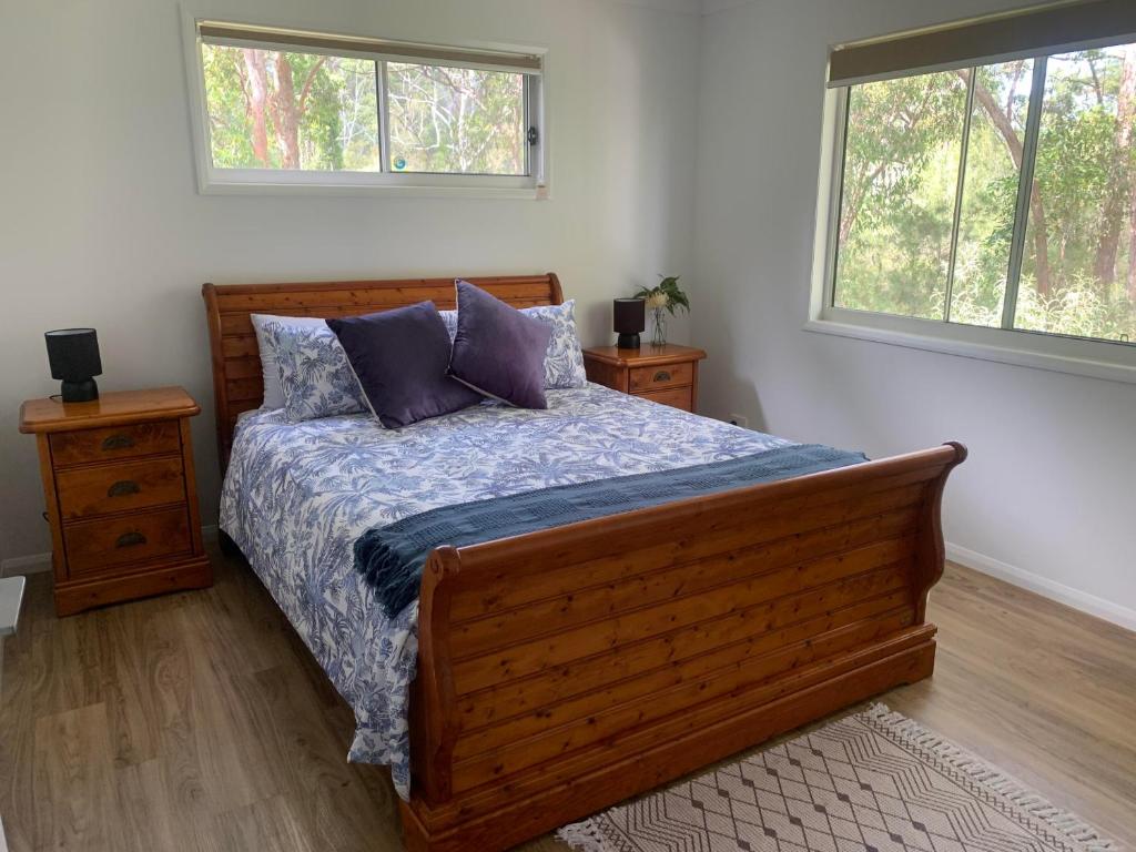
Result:
M107 568L176 553L190 553L189 513L176 509L100 521L69 524L64 529L68 575L103 574Z

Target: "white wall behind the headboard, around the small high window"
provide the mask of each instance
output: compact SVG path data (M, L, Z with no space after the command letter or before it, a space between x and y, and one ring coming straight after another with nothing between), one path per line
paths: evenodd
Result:
M207 520L206 281L551 269L582 302L585 343L608 342L611 296L693 265L699 19L688 0L649 6L189 0L235 19L546 44L553 198L534 202L199 195L175 0L0 0L0 560L49 550L35 441L16 431L22 400L58 391L48 328L99 329L103 390L183 384L202 403Z

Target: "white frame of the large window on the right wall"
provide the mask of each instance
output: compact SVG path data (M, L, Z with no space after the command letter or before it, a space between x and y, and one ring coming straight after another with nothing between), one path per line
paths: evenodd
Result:
M1068 52L1068 50L1062 49L1060 52ZM982 61L976 65L980 67L986 64L986 61ZM1024 192L1028 192L1033 181L1034 156L1036 154L1042 117L1041 107L1045 89L1045 70L1046 58L1035 58L1034 87L1030 92L1028 117L1028 122L1034 127L1033 135L1030 135L1030 130L1027 126L1024 140L1028 154L1024 158L1022 172L1019 177L1019 201L1014 215L1011 268L1006 279L1002 327L964 325L951 321L949 318L924 319L836 307L836 265L840 248L836 243L840 233L844 143L847 132L847 105L851 86L826 89L820 174L817 182L812 287L804 331L1136 384L1136 345L1131 342L1074 337L1012 327L1028 215L1028 195L1025 202L1021 195ZM971 74L971 85L974 78L975 75ZM1041 84L1038 84L1038 80ZM957 194L957 207L958 202ZM959 212L955 210L957 217ZM957 224L958 220L955 220ZM958 228L955 227L952 231L952 242L957 235ZM951 286L950 281L947 286ZM1011 299L1014 303L1011 303ZM946 301L945 314L947 317L950 316L950 299Z

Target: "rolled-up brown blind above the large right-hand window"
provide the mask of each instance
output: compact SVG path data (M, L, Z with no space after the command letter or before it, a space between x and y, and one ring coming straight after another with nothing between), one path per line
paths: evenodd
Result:
M1136 41L1136 0L1049 3L838 44L828 86Z

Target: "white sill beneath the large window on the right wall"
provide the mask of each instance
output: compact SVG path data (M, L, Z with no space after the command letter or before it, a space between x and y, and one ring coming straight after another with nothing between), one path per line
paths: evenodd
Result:
M851 311L851 314L855 312ZM905 331L871 324L877 320L899 320L896 324L901 324L905 321L903 318L887 317L884 319L877 318L875 315L864 316L868 318L863 321L846 321L843 317L838 319L829 317L810 319L804 324L804 331L874 341L893 346L921 349L929 352L943 352L959 358L975 358L983 361L997 361L1018 367L1031 367L1053 373L1136 384L1136 349L1134 348L1029 332L1006 332L996 328L907 320L918 326L934 327L936 334L927 334L922 333L921 329ZM975 340L975 337L983 336L996 337L999 342ZM1092 351L1113 350L1108 353L1114 354L1116 360L1087 356L1086 349Z

